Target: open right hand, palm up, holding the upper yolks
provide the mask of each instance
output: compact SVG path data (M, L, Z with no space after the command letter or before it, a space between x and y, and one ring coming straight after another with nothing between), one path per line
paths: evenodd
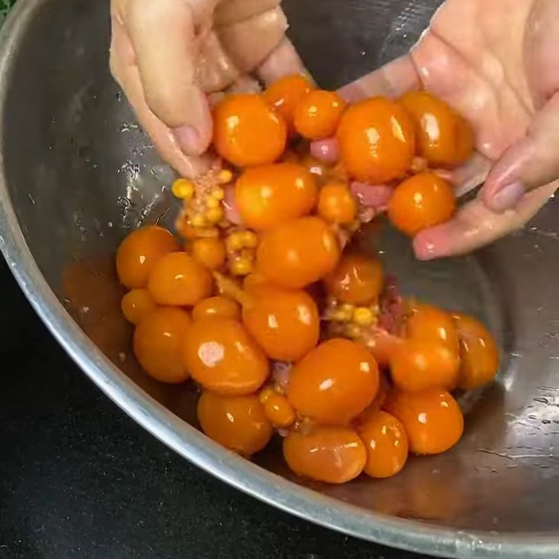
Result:
M342 89L349 101L423 88L473 126L477 154L450 173L456 217L421 232L419 259L463 254L520 228L559 187L559 2L447 0L409 52Z

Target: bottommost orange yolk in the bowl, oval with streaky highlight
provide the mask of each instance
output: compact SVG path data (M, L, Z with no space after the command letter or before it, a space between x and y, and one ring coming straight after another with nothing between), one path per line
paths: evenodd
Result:
M287 465L301 477L344 484L358 477L367 460L357 433L343 427L316 427L308 435L291 433L284 439Z

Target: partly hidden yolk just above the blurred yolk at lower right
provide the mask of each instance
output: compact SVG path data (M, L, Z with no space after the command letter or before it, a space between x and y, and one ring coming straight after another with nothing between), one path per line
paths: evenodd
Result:
M407 319L405 329L407 337L413 340L440 342L458 354L458 332L451 315L444 310L421 303Z

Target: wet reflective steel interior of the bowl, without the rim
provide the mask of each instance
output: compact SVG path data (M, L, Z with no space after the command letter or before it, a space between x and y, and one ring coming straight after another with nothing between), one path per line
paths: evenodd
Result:
M290 34L324 87L337 87L405 52L436 0L285 0ZM196 393L148 378L130 355L113 258L144 223L171 224L172 171L161 163L107 68L106 2L38 2L13 53L1 122L10 198L27 245L85 333L139 386L196 424ZM333 40L335 39L335 40ZM556 534L559 499L558 202L523 231L464 259L414 261L384 232L386 266L405 292L484 319L500 340L498 382L470 395L458 447L414 458L395 479L313 486L370 511L459 530ZM556 450L556 447L558 449ZM270 447L257 461L289 477ZM298 480L294 480L300 483Z

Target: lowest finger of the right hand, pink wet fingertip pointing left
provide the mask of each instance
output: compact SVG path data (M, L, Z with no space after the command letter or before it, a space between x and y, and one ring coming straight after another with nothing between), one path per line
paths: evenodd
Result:
M559 188L559 181L525 194L514 210L492 212L480 198L460 208L450 222L426 229L414 239L420 260L467 254L525 225Z

